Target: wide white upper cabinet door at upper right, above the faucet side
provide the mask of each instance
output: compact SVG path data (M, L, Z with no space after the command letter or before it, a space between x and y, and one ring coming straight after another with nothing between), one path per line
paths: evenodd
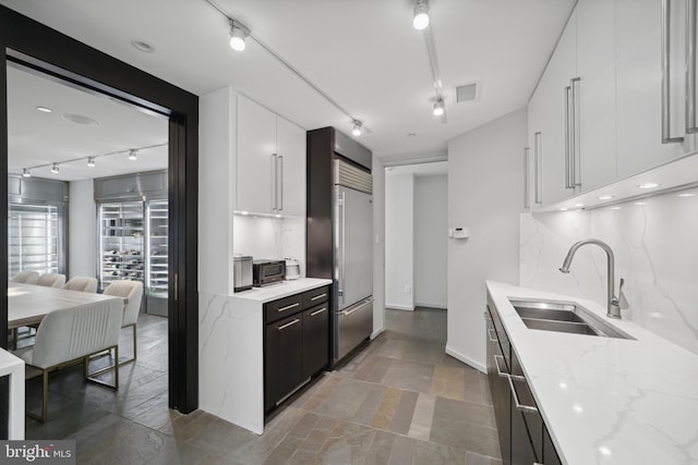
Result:
M685 1L685 0L684 0ZM686 136L684 73L677 66L685 52L684 1L672 1L671 136L683 143L662 144L662 2L616 0L616 139L618 176L626 178L672 160L691 149L695 136ZM682 20L683 19L683 20Z

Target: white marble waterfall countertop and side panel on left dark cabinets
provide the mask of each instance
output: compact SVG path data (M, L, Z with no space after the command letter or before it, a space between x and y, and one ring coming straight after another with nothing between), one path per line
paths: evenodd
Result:
M332 284L302 278L232 295L202 293L200 408L264 431L264 304Z

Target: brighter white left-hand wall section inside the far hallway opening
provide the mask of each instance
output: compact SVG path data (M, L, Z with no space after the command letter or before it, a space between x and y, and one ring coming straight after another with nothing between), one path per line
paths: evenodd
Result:
M414 309L414 175L385 176L385 306Z

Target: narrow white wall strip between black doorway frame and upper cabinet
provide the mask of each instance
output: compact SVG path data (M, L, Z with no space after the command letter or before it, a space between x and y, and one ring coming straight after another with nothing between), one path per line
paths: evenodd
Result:
M226 87L198 100L198 289L232 292L236 94Z

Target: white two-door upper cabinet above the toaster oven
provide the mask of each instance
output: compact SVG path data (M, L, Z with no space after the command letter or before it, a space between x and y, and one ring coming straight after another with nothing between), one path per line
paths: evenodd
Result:
M238 97L239 211L305 216L305 132Z

